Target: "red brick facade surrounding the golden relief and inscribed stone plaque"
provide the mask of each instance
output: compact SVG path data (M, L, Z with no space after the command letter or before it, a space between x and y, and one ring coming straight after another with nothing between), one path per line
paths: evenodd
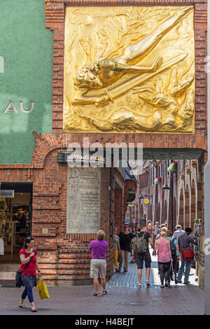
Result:
M65 6L194 6L195 7L195 134L63 134L63 81L64 81L64 15ZM52 283L68 281L83 283L89 280L90 252L88 245L95 235L66 235L66 176L67 165L57 163L57 152L66 151L69 143L83 146L83 137L90 144L99 141L142 143L144 148L192 148L207 151L207 74L204 71L207 56L207 0L192 1L67 1L45 0L45 27L54 34L52 134L34 132L36 146L29 165L0 165L2 182L33 183L32 235L38 241L39 263L45 279ZM204 155L206 160L206 155ZM101 227L109 241L107 254L110 277L113 271L111 230L113 225L123 225L126 210L125 179L120 170L102 169ZM198 186L201 188L201 184ZM120 190L116 189L116 183ZM132 183L131 183L132 184ZM175 184L174 184L175 185ZM133 188L133 187L132 187ZM196 190L196 188L195 188ZM119 192L121 191L121 192ZM203 191L200 192L203 197ZM124 209L120 211L120 195ZM202 202L203 204L203 202ZM167 204L168 207L168 204ZM177 208L178 209L178 208ZM152 209L151 209L152 210ZM140 209L138 211L141 211ZM153 210L152 210L153 211ZM163 208L160 207L160 214ZM152 212L150 213L152 214ZM144 215L144 214L143 214ZM116 223L114 219L116 218ZM121 222L120 222L121 218ZM43 233L43 228L48 233Z

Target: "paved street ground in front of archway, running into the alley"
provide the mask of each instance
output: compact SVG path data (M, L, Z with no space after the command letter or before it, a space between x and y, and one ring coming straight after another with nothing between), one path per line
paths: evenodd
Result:
M145 273L145 269L143 270ZM137 287L137 265L129 264L129 272L115 273L107 283L108 294L93 297L93 286L49 286L50 299L40 300L34 288L37 313L17 307L22 288L0 287L0 315L183 315L204 314L204 291L195 281L191 269L189 286L182 284L172 288L160 288L157 261L153 258L151 287ZM144 274L142 283L146 281ZM29 302L26 300L27 307Z

